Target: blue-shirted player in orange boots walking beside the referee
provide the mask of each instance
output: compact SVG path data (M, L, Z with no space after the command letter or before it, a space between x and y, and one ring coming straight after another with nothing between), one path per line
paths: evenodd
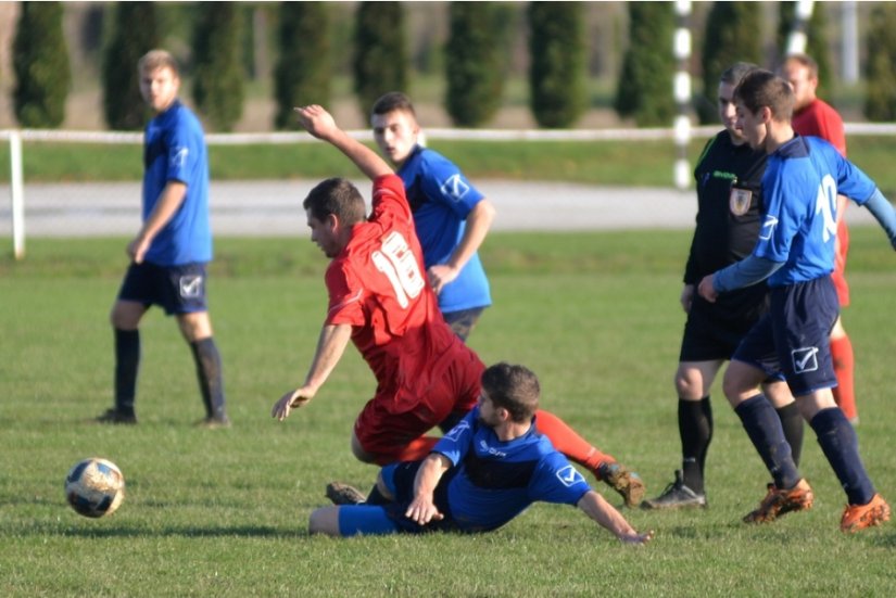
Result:
M716 301L767 280L769 313L741 342L724 376L724 392L774 479L759 508L744 521L773 521L812 506L784 440L781 421L757 390L782 372L803 417L846 492L841 530L855 532L889 519L859 456L856 432L834 403L836 385L829 335L840 304L834 269L837 194L867 207L896 249L896 214L874 182L826 141L794 133L790 84L767 71L744 78L735 91L739 126L750 147L769 154L762 177L762 225L748 257L706 276L699 293Z

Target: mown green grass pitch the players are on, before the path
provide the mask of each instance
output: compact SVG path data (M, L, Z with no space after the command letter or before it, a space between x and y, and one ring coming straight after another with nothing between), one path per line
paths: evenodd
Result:
M633 466L655 495L680 466L674 371L687 231L494 233L483 262L495 305L470 344L541 377L543 406ZM278 423L270 406L304 377L324 316L325 259L305 240L218 239L211 300L230 430L204 431L174 322L143 326L136 428L89 422L111 405L108 310L124 239L29 241L0 258L0 596L894 596L896 527L846 536L844 495L810 431L816 507L768 526L741 517L768 474L714 389L709 509L627 511L654 543L626 547L568 507L537 505L481 536L308 537L326 482L363 487L349 434L374 382L350 351L318 397ZM896 256L853 229L845 314L857 355L862 455L896 499L893 289ZM67 508L87 456L127 479L103 520ZM606 486L597 489L615 505Z

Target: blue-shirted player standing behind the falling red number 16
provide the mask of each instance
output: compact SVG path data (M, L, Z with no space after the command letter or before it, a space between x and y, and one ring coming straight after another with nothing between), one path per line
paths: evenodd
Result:
M494 206L442 154L419 143L411 100L390 92L374 104L374 139L404 181L439 309L463 341L492 304L477 251L494 219Z

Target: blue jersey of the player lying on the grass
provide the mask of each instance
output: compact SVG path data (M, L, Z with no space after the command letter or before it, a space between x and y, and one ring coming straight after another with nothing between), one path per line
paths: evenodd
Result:
M458 529L500 527L535 500L577 505L591 487L546 436L532 425L509 442L479 421L479 407L443 436L433 453L447 457L451 518Z

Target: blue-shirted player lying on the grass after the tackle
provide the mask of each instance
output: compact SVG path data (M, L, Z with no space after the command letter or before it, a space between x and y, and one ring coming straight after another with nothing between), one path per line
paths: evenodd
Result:
M479 405L429 457L384 467L365 504L315 510L310 533L489 532L541 500L579 507L622 542L653 538L653 532L639 534L535 432L539 396L538 378L527 368L491 366Z

